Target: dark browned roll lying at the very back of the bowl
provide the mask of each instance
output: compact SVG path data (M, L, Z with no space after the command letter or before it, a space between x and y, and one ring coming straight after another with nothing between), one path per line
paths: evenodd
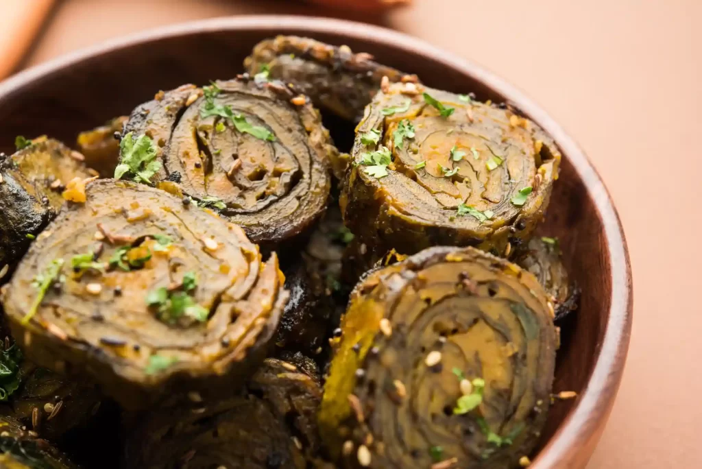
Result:
M244 67L252 75L263 72L265 77L295 84L315 105L349 121L361 119L383 77L388 82L416 81L413 75L375 62L368 53L296 36L261 41Z

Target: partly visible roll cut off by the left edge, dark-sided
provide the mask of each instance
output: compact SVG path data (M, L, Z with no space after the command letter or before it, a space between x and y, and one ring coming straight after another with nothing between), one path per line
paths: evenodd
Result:
M66 202L66 185L97 174L80 153L46 137L18 137L15 154L0 154L0 280Z

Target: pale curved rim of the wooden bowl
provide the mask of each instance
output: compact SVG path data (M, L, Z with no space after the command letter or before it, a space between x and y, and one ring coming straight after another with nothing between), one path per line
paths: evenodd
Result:
M241 15L195 20L136 32L95 46L61 55L40 65L15 74L0 83L0 101L11 96L29 82L70 67L77 62L110 53L115 49L135 46L168 37L186 34L259 29L296 29L308 34L326 33L352 39L368 40L400 49L405 53L424 55L465 74L475 81L505 96L517 108L531 117L552 136L569 159L602 218L604 238L609 249L611 298L604 338L595 357L595 366L585 389L559 425L555 434L541 449L531 468L545 469L585 465L604 428L614 404L623 374L633 319L633 286L628 249L619 220L607 188L588 157L541 107L515 86L496 74L427 42L384 27L347 20L315 18L296 15Z

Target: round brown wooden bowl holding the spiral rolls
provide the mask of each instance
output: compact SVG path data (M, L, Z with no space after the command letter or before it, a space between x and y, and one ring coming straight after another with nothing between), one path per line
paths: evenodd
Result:
M256 42L276 34L347 44L418 74L429 86L510 101L555 138L565 158L542 232L561 239L583 296L564 326L554 390L575 390L578 397L555 402L531 467L583 467L609 416L629 344L632 286L624 235L607 189L576 143L529 98L477 65L353 22L293 16L190 22L72 53L4 81L0 149L12 151L17 135L47 134L70 144L79 131L128 114L159 89L230 78Z

